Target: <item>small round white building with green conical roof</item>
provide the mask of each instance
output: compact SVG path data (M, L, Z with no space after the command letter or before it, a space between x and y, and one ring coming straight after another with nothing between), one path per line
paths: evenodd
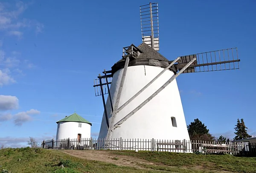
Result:
M76 112L56 123L58 124L56 140L70 138L81 141L81 138L90 138L92 124Z

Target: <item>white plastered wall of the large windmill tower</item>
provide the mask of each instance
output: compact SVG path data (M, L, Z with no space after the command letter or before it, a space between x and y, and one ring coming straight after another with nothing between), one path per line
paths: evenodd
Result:
M148 82L157 76L163 68L157 66L129 66L127 69L119 107L135 95ZM118 87L121 81L123 69L119 69L113 75L111 83L111 97L113 104L116 100ZM115 123L139 106L157 89L159 89L174 73L167 70L153 84L145 89L137 98L116 114ZM107 100L107 112L109 123L111 122L111 104ZM175 117L177 127L172 126L171 117ZM115 124L114 123L114 124ZM102 117L99 138L106 138L108 133L105 114ZM112 132L111 138L132 139L158 139L189 141L185 116L180 99L176 80L172 81L165 89L149 101L144 107L126 120L120 127Z

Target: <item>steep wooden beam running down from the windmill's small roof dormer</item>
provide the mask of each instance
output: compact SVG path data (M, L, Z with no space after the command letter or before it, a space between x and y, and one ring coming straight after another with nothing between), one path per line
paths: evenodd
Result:
M126 72L127 72L127 69L128 69L128 65L129 65L129 60L130 60L129 57L127 57L126 60L125 60L125 67L124 67L124 70L122 72L122 78L121 78L120 85L119 85L119 88L118 88L118 92L117 92L117 96L116 96L116 101L115 101L115 104L114 104L114 110L112 112L110 128L108 129L108 134L107 134L107 138L108 139L111 138L111 129L112 129L113 124L115 122L116 110L117 110L118 105L119 105L120 96L121 96L121 93L122 93L122 87L124 85L125 75L126 75Z

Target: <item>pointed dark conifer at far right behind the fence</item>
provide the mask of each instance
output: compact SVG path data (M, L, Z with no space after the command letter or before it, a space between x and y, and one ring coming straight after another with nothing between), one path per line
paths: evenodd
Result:
M248 128L245 126L243 118L241 118L241 121L239 120L239 118L237 119L237 124L234 129L236 130L236 132L234 132L236 134L234 140L246 139L246 138L252 137L247 133L246 129Z

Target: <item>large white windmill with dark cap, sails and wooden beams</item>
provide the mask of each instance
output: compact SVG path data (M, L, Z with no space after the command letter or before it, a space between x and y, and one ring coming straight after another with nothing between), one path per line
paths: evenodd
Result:
M158 4L140 6L140 21L143 43L124 47L122 59L94 80L104 106L99 138L190 140L177 76L239 69L237 48L169 61L158 52Z

